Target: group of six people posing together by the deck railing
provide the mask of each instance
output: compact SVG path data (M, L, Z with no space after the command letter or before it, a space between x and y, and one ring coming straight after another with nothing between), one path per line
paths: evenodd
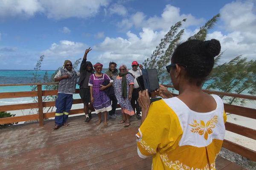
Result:
M92 65L90 61L87 61L87 54L91 50L91 48L85 50L79 72L73 69L70 60L65 60L63 68L54 77L54 80L59 82L58 98L55 101L54 129L58 129L62 125L69 125L67 119L72 107L77 77L79 77L79 94L84 104L85 123L90 122L90 112L94 108L98 115L96 125L101 124L103 112L103 125L107 126L108 113L110 118L116 118L117 103L122 110L122 120L119 124L124 124L124 127L131 125L130 116L135 112L137 119L141 118L137 104L140 88L136 78L142 75L143 66L139 65L137 61L133 61L131 70L128 71L125 65L120 65L118 71L116 62L110 62L108 71L102 73L103 65L101 63L97 62Z

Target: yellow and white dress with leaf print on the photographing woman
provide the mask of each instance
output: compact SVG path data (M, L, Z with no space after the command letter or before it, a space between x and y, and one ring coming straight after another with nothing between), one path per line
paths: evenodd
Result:
M214 111L190 110L177 97L153 102L139 128L137 152L153 156L153 170L215 170L225 135L226 114L221 98Z

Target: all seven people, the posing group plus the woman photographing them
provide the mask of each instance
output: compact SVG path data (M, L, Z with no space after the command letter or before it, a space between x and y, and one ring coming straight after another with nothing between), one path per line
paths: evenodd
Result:
M129 118L134 115L130 101L138 91L142 118L136 134L137 153L141 158L153 157L152 170L215 170L215 159L224 140L227 116L221 98L206 94L201 88L220 50L220 42L215 39L188 40L177 45L171 64L166 69L179 94L174 97L167 88L160 85L155 93L163 99L151 103L147 89L136 89L134 76L141 74L136 70L137 62L132 63L131 72L127 71L125 65L120 65L119 73L116 63L111 62L109 70L103 74L101 63L92 65L86 61L90 48L87 49L79 79L80 96L86 117L89 118L87 120L90 120L87 110L89 102L93 103L99 115L98 125L101 123L101 112L105 116L104 125L108 125L107 112L113 116L114 105L119 102L123 113L119 123L129 126ZM92 68L96 73L93 73ZM56 128L68 125L67 116L72 104L70 95L75 92L77 76L70 61L65 61L64 68L56 75L55 81L59 81ZM60 115L62 117L58 117Z

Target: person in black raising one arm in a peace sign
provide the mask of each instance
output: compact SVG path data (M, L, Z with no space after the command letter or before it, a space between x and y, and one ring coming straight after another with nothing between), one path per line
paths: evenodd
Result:
M91 119L91 111L89 110L89 102L90 102L90 86L88 86L90 75L93 74L93 65L90 61L87 60L87 54L92 49L88 48L84 52L84 57L80 65L80 78L78 81L79 84L79 94L84 103L84 113L85 113L85 123L89 123ZM90 104L91 105L91 104ZM92 107L92 106L91 106ZM90 107L90 108L91 108Z

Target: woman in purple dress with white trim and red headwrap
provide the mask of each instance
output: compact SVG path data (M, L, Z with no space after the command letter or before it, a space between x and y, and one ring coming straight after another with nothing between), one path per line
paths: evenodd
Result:
M112 107L111 100L104 90L112 85L113 80L111 80L107 74L102 73L102 67L103 65L99 62L93 65L96 73L90 75L88 85L90 86L91 102L93 103L93 107L99 118L98 122L96 122L96 125L99 125L102 122L101 113L104 112L104 126L107 126L108 111L111 111ZM106 86L102 85L105 80L110 81L110 83Z

